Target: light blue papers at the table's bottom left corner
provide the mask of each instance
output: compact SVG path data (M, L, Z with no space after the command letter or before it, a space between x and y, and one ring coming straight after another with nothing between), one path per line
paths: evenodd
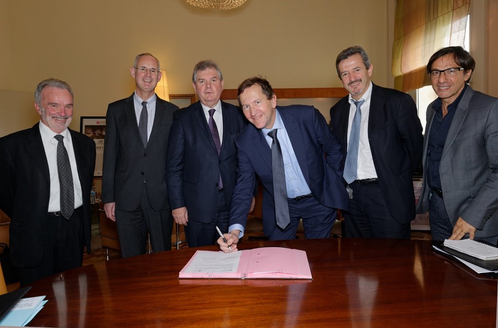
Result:
M24 327L43 309L45 296L20 299L0 320L0 326Z

